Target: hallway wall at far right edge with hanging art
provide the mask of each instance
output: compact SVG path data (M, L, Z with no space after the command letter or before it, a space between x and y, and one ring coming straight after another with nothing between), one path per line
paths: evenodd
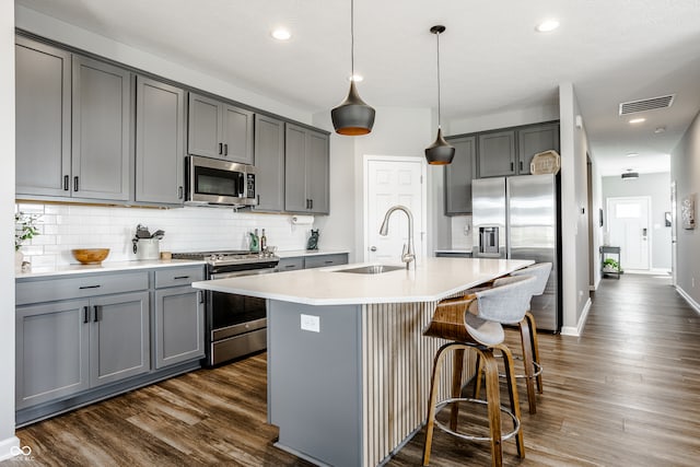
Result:
M700 191L700 114L670 153L670 179L676 180L677 203L675 219L680 220L680 201ZM696 197L696 218L699 199ZM698 229L677 229L676 283L696 304L700 302L700 232ZM693 280L696 279L696 280Z

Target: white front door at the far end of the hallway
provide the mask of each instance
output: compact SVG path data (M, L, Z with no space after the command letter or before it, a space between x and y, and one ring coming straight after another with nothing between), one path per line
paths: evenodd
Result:
M650 198L608 198L610 245L620 247L620 266L625 269L649 269Z

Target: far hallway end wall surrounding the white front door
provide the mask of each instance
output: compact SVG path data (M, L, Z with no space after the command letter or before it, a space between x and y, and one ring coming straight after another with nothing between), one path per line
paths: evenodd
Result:
M670 227L664 226L664 212L670 211L670 173L640 174L632 180L623 180L619 176L603 177L604 210L607 198L635 196L649 196L652 200L650 267L670 269ZM607 232L607 225L605 230Z

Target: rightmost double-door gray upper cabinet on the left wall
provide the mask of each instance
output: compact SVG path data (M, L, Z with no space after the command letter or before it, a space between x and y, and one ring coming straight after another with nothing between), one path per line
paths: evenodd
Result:
M328 213L328 136L287 124L284 209Z

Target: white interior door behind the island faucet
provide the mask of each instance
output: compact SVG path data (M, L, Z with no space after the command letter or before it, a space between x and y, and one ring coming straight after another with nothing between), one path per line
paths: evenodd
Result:
M365 156L365 252L364 260L397 262L408 244L408 220L395 211L387 236L380 235L386 211L396 205L407 207L413 217L417 260L425 256L425 164L422 157Z

